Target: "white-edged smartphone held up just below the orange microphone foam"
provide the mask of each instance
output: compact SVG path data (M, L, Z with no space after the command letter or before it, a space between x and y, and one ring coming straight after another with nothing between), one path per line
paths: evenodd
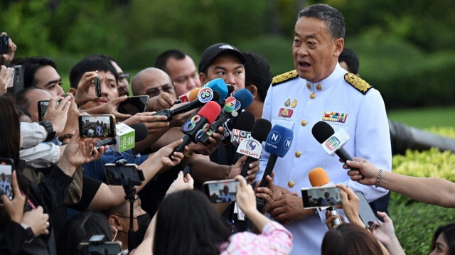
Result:
M340 188L337 187L302 188L301 199L305 209L343 205Z

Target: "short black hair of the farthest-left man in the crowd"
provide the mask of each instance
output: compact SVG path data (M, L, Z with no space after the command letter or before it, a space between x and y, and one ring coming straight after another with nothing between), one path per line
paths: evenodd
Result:
M23 87L33 87L36 85L35 73L36 71L47 65L57 69L55 62L47 57L28 57L18 58L13 61L14 65L22 65L23 68Z

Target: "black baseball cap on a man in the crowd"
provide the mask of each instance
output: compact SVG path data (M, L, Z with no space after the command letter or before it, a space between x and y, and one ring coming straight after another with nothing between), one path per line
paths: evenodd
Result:
M205 72L208 66L212 63L212 61L218 57L221 53L229 53L235 55L237 58L240 58L243 64L247 62L245 56L240 53L240 51L235 48L234 46L228 43L216 43L210 45L208 48L204 50L202 56L199 60L199 72Z

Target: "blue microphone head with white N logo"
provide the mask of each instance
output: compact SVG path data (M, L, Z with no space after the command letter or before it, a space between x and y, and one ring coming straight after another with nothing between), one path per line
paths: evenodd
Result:
M289 151L289 148L291 148L293 138L294 133L291 129L275 125L270 130L269 136L267 136L267 140L265 141L265 151L282 158Z

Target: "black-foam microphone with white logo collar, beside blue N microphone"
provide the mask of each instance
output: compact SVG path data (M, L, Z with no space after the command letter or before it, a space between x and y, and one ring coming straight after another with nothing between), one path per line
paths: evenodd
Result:
M240 175L247 177L248 169L250 169L250 163L257 161L262 152L262 142L267 139L267 135L272 129L272 123L267 119L258 119L253 126L251 131L251 139L244 139L240 142L237 148L237 153L247 155L247 161L243 164ZM267 175L266 175L267 176Z

